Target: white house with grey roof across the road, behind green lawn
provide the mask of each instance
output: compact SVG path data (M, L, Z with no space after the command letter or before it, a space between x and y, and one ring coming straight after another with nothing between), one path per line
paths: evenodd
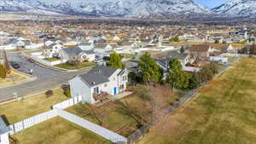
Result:
M83 50L80 48L64 48L61 49L59 57L61 58L61 60L65 61L79 60L80 62L84 62L95 60L96 54L93 50Z

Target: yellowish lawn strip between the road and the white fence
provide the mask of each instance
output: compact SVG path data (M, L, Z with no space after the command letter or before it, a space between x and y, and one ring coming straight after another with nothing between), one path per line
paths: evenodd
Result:
M56 103L65 100L67 100L67 96L63 94L63 90L55 89L54 95L49 98L43 93L21 101L0 105L0 116L5 115L9 120L9 124L14 124L25 118L46 112Z

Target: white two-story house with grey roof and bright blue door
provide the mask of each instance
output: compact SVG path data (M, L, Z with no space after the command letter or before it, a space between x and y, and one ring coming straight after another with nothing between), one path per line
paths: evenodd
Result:
M126 70L108 66L96 66L88 73L69 81L71 95L83 96L83 101L96 103L101 95L118 95L125 91L128 82Z

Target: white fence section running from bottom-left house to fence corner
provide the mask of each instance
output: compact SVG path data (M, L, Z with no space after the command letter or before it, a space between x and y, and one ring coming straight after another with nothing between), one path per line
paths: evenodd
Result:
M40 113L31 118L26 118L18 123L9 125L9 135L13 135L21 130L25 130L27 128L32 127L35 124L42 123L50 118L54 118L58 116L56 110L50 110L48 112Z

